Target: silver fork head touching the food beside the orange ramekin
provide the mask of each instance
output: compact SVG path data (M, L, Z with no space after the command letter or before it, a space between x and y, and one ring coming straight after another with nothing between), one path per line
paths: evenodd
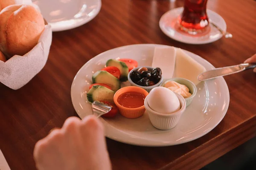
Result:
M112 107L109 105L106 105L103 102L94 101L92 103L92 109L93 109L93 115L98 115L97 118L99 118L100 116L110 112Z

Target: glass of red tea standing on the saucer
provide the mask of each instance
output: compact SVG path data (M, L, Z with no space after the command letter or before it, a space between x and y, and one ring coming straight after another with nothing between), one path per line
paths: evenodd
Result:
M206 12L207 0L185 0L184 10L179 17L180 28L189 34L204 32L209 25Z

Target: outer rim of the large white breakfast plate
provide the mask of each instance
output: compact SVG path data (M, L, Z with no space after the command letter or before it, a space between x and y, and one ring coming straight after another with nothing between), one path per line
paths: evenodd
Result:
M72 105L73 105L73 108L75 109L76 113L78 114L79 118L81 118L80 114L77 112L75 106L74 106L74 101L73 101L73 98L72 98L72 92L73 92L73 84L76 80L76 77L77 75L79 74L79 72L84 69L85 65L87 63L90 63L90 62L93 62L93 60L97 57L100 57L101 55L104 55L105 53L107 52L110 52L110 51L114 51L118 48L127 48L129 46L168 46L170 47L170 45L162 45L162 44L132 44L132 45L124 45L124 46L120 46L120 47L116 47L116 48L112 48L110 50L107 50L107 51L104 51L98 55L96 55L95 57L91 58L89 61L87 61L80 69L79 71L76 73L76 76L74 77L73 79L73 82L72 82L72 85L71 85L71 91L70 91L70 96L71 96L71 101L72 101ZM176 47L175 47L176 48ZM182 48L180 48L182 49ZM183 51L186 51L184 49L182 49ZM192 53L190 51L186 51L188 53ZM198 56L197 54L195 53L192 53L194 55L196 55L197 57L199 57L201 60L203 60L204 62L207 62L207 64L209 64L211 66L211 68L215 68L210 62L208 62L206 59ZM116 137L113 137L111 135L109 135L106 131L106 127L105 127L105 136L108 137L109 139L112 139L112 140L115 140L117 142L122 142L122 143L125 143L125 144L131 144L131 145L136 145L136 146L145 146L145 147L164 147L164 146L172 146L172 145L177 145L177 144L183 144L183 143L187 143L187 142L191 142L195 139L198 139L198 138L201 138L202 136L206 135L207 133L209 133L210 131L212 131L223 119L224 119L224 116L227 114L227 110L228 110L228 107L229 107L229 104L230 104L230 94L229 94L229 89L228 89L228 86L227 86L227 82L225 81L225 79L223 77L218 77L217 79L221 80L221 82L224 83L224 86L226 88L225 91L228 92L228 95L227 95L227 105L225 105L225 108L223 109L223 114L222 116L220 117L219 121L214 125L212 126L212 128L209 128L208 130L206 130L204 133L201 133L201 135L199 136L196 136L194 138L188 138L186 140L182 140L180 142L176 142L175 144L172 144L172 143L156 143L156 144L145 144L145 143L134 143L134 142L128 142L128 141L125 141L125 139L122 139L122 138L116 138ZM103 118L100 118L101 121L105 121L105 119ZM106 122L106 121L105 121ZM116 129L116 128L115 128ZM119 129L117 129L119 130Z

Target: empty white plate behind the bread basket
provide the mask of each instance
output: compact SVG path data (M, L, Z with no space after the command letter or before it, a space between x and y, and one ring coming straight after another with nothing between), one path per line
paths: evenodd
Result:
M64 31L88 23L99 13L101 0L32 0L52 31Z

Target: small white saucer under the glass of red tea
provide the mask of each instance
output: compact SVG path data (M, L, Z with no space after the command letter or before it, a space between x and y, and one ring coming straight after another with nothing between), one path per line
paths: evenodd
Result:
M187 44L207 44L217 41L222 37L222 34L220 34L218 29L211 25L209 25L210 31L201 36L189 35L183 31L180 31L177 25L177 17L182 13L182 11L183 7L174 8L163 14L163 16L160 18L159 26L163 33L168 37ZM223 31L227 30L226 22L219 14L207 9L207 15L209 19L212 20L212 22L219 26Z

